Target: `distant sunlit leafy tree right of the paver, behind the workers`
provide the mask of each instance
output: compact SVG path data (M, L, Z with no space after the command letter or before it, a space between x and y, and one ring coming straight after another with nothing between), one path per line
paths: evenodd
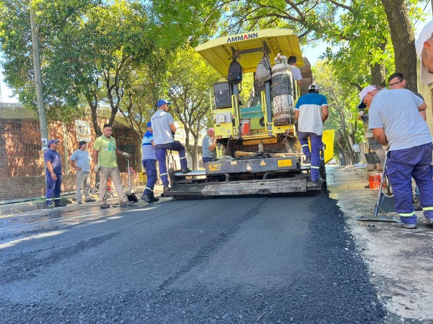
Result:
M337 145L342 151L347 148L351 163L355 163L353 144L363 141L362 124L357 122L359 95L354 87L341 82L334 69L332 63L321 60L312 68L320 93L328 100L330 116L325 126L337 130Z

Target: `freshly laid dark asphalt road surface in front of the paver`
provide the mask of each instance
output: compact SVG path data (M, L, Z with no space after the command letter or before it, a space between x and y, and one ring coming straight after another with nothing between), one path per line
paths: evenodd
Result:
M49 213L1 219L0 323L380 323L385 314L325 195Z

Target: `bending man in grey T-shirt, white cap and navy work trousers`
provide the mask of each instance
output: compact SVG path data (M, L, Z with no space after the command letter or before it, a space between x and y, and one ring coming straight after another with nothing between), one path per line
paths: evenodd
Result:
M400 221L393 226L414 229L417 216L412 203L411 179L420 189L421 207L428 224L433 224L432 137L419 114L427 105L407 89L361 91L358 108L370 107L368 127L388 151L386 174L393 189Z

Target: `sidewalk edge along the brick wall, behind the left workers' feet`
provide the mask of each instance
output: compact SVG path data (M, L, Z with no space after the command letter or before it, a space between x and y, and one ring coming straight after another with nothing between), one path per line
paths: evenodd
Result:
M142 195L143 191L144 191L145 186L137 186L137 187L132 187L131 192L134 192L137 196L137 198L140 199L140 196ZM123 191L125 193L128 192L128 188L123 188ZM160 184L155 184L155 194L158 197L159 194L162 193L162 185ZM96 199L96 202L94 203L83 203L81 205L79 205L75 199L75 194L66 194L66 195L61 195L61 200L63 203L67 203L68 206L66 207L61 207L63 208L65 211L69 211L69 210L78 210L81 208L86 208L88 206L94 206L94 205L99 205L99 194L97 193L93 193L91 194L92 198ZM113 199L113 198L117 198L117 193L116 190L111 190L111 191L107 191L107 198L108 199ZM114 200L113 200L114 201ZM10 215L13 215L15 213L22 213L22 212L28 212L28 211L32 211L32 210L41 210L41 209L45 209L45 200L31 200L31 201L26 201L26 202L20 202L20 203L6 203L3 205L0 205L0 218L2 217L7 217Z

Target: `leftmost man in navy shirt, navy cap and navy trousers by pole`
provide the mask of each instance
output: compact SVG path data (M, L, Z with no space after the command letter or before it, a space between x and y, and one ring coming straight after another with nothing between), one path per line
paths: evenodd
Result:
M46 206L47 208L64 207L65 203L61 203L61 160L60 154L57 152L59 140L49 140L48 149L44 153L45 164L47 166L45 178L47 181ZM54 201L54 204L53 204Z

